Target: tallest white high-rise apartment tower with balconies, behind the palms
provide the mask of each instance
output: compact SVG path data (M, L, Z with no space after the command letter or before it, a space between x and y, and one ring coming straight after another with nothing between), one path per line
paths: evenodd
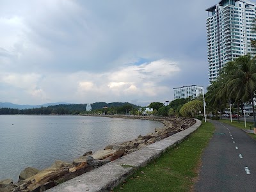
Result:
M223 0L206 10L210 83L215 81L221 67L228 61L248 52L255 56L251 45L251 40L256 39L256 33L252 33L255 8L255 3L250 1Z

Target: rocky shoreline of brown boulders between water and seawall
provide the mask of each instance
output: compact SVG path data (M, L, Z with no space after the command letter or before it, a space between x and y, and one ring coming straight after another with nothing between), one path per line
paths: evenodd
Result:
M30 167L26 168L20 173L17 183L13 183L12 179L0 180L0 192L45 191L83 173L90 172L103 164L115 161L115 159L119 157L140 150L140 148L183 131L196 122L193 118L182 117L167 118L119 115L104 115L104 117L157 120L162 122L164 127L161 129L157 128L155 132L148 133L146 136L140 135L138 138L131 141L108 145L103 150L99 150L95 153L92 151L86 152L83 156L74 159L72 163L56 161L52 166L44 170L36 170Z

